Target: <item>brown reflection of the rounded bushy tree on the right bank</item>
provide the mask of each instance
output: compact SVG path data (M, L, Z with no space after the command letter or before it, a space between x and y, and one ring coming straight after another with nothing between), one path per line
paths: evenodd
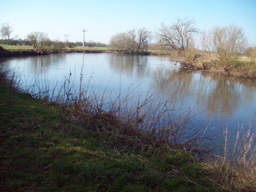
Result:
M254 98L250 80L237 80L216 74L202 74L198 84L198 101L210 112L232 114L240 104L250 104Z

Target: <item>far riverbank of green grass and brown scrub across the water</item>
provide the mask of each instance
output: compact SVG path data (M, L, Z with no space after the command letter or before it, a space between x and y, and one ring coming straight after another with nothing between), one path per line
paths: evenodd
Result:
M20 47L20 48L19 48ZM8 49L6 49L8 48ZM58 54L58 53L115 53L111 48L104 47L93 47L93 48L56 48L48 47L45 49L33 49L30 46L6 46L3 48L0 46L0 58L14 57L14 56L33 56L33 55L44 55L44 54ZM142 55L152 56L170 56L173 57L173 53L164 51L142 51ZM240 60L230 66L216 66L216 64L210 62L199 53L195 54L193 58L188 60L187 56L180 56L174 54L174 62L180 64L181 67L190 68L192 70L201 70L209 73L222 74L224 76L237 76L245 78L256 78L256 62L250 58L241 57ZM188 60L188 61L187 61ZM185 62L184 62L185 61Z

